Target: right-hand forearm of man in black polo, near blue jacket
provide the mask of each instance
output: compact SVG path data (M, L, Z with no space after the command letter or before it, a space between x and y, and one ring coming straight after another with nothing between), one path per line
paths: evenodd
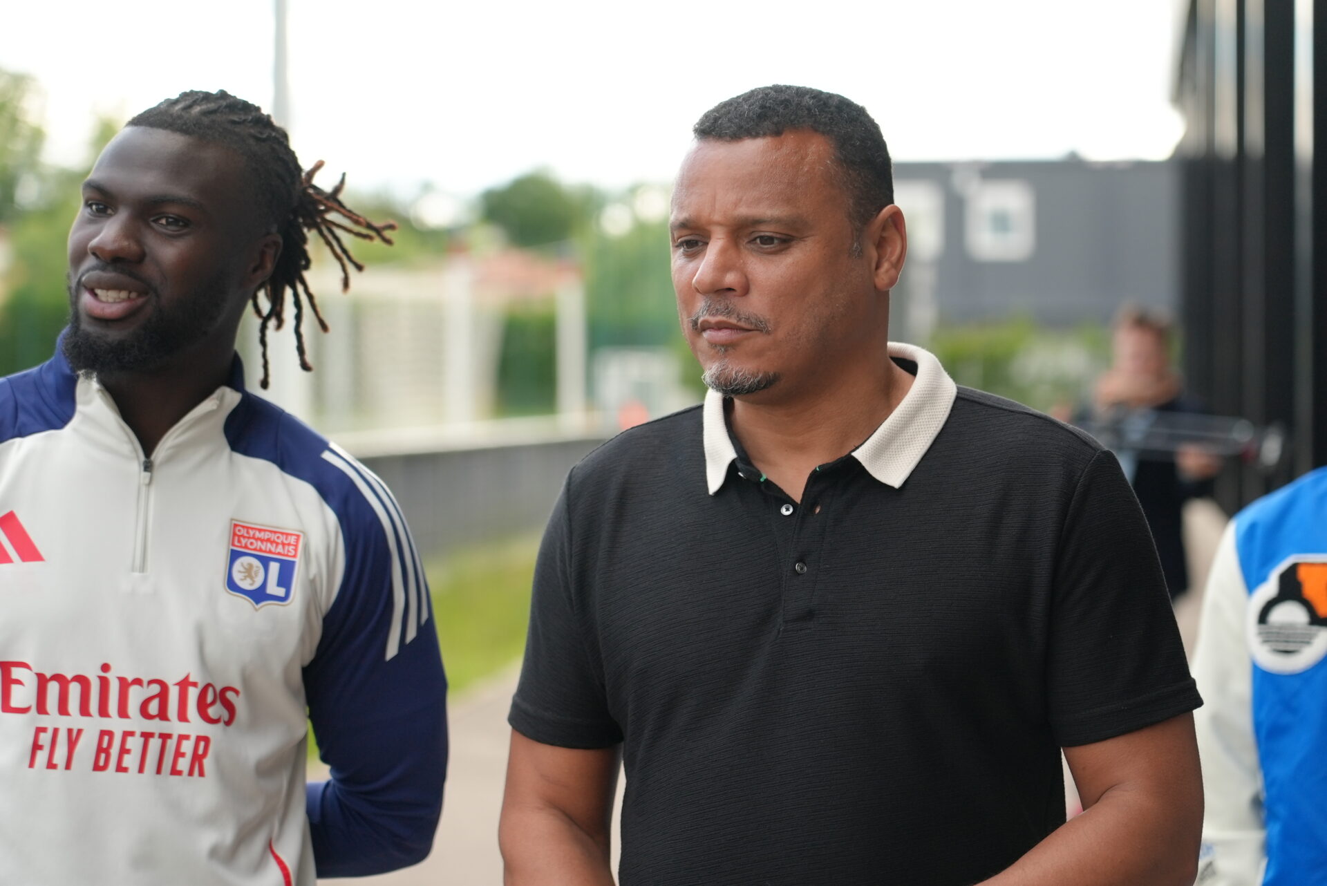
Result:
M1198 861L1192 818L1144 791L1115 788L979 886L1192 886Z

